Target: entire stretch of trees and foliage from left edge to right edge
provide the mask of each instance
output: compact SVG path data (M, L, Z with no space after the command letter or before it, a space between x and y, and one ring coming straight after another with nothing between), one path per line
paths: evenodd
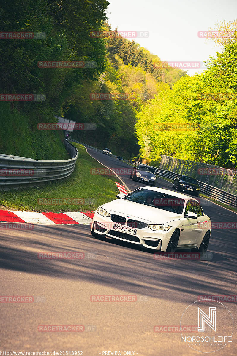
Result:
M118 36L117 30L109 37L91 36L92 31L112 31L105 23L107 6L106 0L0 3L1 31L47 35L0 41L0 92L46 95L46 101L0 102L0 152L38 159L67 157L62 132L37 129L38 122L56 122L55 115L59 115L96 123L96 130L74 130L72 137L108 147L125 158L140 154L159 162L165 154L236 167L236 100L203 96L235 95L236 39L223 43L223 52L210 58L205 72L189 77L180 69L156 66L158 56ZM37 66L40 61L57 60L93 61L96 67ZM130 100L92 100L94 93L133 96Z

